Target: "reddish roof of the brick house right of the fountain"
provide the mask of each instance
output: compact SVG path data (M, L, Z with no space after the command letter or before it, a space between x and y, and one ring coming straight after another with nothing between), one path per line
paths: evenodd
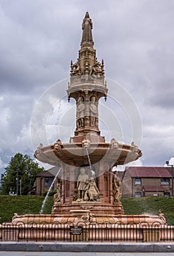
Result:
M139 178L171 178L170 172L166 167L126 167L129 175Z

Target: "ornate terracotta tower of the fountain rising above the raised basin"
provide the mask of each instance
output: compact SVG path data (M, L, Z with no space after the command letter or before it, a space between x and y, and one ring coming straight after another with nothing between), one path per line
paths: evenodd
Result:
M72 143L88 137L91 142L105 142L100 136L98 105L101 97L107 97L104 61L97 60L92 37L93 23L86 12L82 23L83 35L77 61L70 65L68 99L76 100L76 129Z

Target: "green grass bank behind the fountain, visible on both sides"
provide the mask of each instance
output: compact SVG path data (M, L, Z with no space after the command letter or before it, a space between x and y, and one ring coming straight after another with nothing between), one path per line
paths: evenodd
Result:
M14 213L39 214L43 196L0 196L0 222L11 222ZM158 215L161 209L167 224L174 225L174 198L172 197L140 197L121 198L125 214ZM43 214L50 214L53 197L48 197Z

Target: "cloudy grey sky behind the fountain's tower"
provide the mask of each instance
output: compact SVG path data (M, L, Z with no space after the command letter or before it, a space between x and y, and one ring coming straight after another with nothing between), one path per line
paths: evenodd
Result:
M0 0L1 172L15 153L32 157L39 142L46 146L42 121L37 122L45 113L49 115L43 136L48 143L54 143L59 135L68 142L73 135L75 115L67 113L75 112L75 102L67 102L66 89L70 61L77 60L80 49L86 11L94 24L97 58L105 60L105 76L112 81L107 83L107 108L100 109L104 113L102 135L117 135L119 127L124 143L134 139L143 151L138 165L162 166L169 159L172 163L173 0ZM118 87L128 100L116 99ZM127 101L134 102L130 111ZM105 119L106 109L112 125ZM71 122L69 127L67 124L69 134L62 128L56 135L63 119ZM129 126L138 138L132 138Z

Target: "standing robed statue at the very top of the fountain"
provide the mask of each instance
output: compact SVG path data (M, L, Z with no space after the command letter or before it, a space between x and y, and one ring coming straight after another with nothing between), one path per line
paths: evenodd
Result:
M94 42L92 39L92 20L91 18L89 18L88 12L86 12L86 16L83 19L82 29L83 29L83 36L82 36L81 45L83 45L83 42L92 42L92 44L94 45Z

